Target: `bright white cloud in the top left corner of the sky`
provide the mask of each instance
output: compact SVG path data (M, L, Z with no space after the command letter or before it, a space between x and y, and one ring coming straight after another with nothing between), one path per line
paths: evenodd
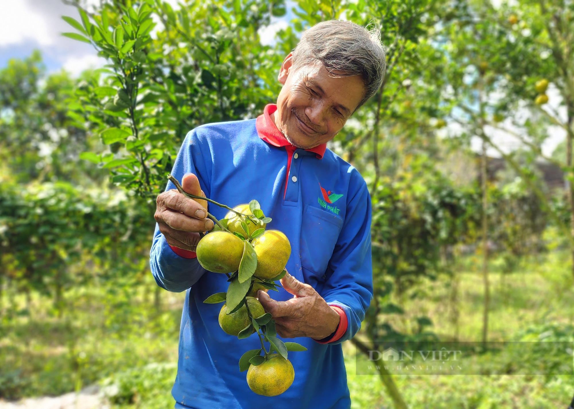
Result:
M0 0L0 46L32 40L40 45L54 41L48 24L25 0Z

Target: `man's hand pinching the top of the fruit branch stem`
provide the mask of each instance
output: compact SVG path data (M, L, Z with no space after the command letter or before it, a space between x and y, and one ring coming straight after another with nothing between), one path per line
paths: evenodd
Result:
M185 174L181 187L189 194L205 197L196 175ZM189 199L172 189L157 196L156 205L154 218L170 246L195 251L199 233L214 227L214 222L207 218L207 200Z

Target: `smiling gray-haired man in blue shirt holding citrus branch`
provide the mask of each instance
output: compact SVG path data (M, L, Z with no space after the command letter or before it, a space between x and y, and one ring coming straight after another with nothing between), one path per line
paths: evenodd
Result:
M221 305L202 301L226 291L227 277L206 272L193 253L199 232L214 226L205 209L218 219L226 210L168 184L157 198L150 264L162 288L187 290L176 408L350 407L340 344L358 331L373 293L371 206L359 172L326 143L381 86L385 52L377 34L346 21L313 26L281 65L277 105L257 120L202 125L185 138L172 171L185 191L229 206L257 199L273 218L268 227L289 238L283 289L258 296L278 335L308 351L289 354L295 379L284 394L251 392L238 360L259 340L222 331Z

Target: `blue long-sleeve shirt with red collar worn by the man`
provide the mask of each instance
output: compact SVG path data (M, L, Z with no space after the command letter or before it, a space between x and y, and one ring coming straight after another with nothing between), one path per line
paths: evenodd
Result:
M246 120L202 125L189 132L172 174L181 180L192 172L208 198L231 207L257 199L263 213L273 219L267 228L281 230L289 238L286 269L313 286L328 304L343 309L347 329L328 344L307 337L293 339L308 351L289 352L295 370L292 386L273 398L254 394L238 361L244 352L260 347L258 337L238 340L227 335L218 324L222 304L203 304L211 294L227 290L227 277L207 272L197 259L174 253L156 226L150 253L153 276L166 290L187 290L172 390L176 408L271 404L275 409L327 409L351 404L340 343L359 330L373 294L369 192L359 172L333 152L321 155L285 147L269 132L265 135L265 128L274 127L268 109L269 105L257 128L255 120ZM260 120L267 120L263 128ZM174 186L168 183L167 188ZM227 213L211 203L208 211L218 219ZM292 297L283 289L270 296Z

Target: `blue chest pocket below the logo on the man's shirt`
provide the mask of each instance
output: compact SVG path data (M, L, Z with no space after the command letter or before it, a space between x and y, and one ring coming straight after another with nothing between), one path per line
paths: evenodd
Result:
M323 277L339 238L343 220L331 212L306 206L301 226L301 266Z

